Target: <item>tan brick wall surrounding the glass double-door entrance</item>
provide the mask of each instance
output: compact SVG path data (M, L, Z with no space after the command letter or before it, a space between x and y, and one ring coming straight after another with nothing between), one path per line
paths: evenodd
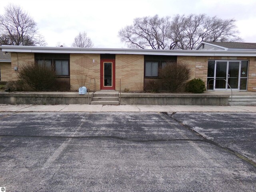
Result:
M192 70L192 78L207 79L208 60L249 60L248 91L256 91L256 57L209 57L209 56L178 56L177 61L187 62Z

